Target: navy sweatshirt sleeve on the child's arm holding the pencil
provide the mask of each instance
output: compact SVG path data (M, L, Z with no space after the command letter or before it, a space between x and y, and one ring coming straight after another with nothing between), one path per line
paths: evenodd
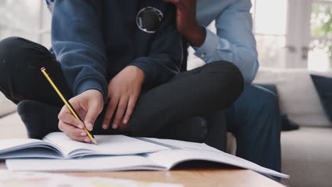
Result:
M96 0L55 0L52 4L52 48L74 96L89 89L107 95L107 60Z

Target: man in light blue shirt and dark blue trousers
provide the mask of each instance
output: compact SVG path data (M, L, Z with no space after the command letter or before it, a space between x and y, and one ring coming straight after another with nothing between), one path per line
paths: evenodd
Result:
M226 111L236 154L280 171L280 114L271 92L250 85L258 70L250 0L165 0L177 6L177 28L204 62L226 60L240 69L245 90ZM197 10L197 12L195 11ZM217 34L204 26L216 21Z

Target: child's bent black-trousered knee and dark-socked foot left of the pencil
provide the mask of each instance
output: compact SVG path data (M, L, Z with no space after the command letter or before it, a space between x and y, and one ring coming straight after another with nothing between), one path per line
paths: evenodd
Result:
M1 92L16 104L33 100L61 108L63 103L40 72L41 67L48 69L48 74L62 94L69 98L70 91L67 89L60 63L45 47L23 38L6 38L0 41ZM18 113L28 129L28 136L33 138L40 138L48 132L58 131L57 113L50 115L49 111L38 106L40 104L18 107ZM55 123L50 123L54 120ZM33 123L30 123L31 121Z

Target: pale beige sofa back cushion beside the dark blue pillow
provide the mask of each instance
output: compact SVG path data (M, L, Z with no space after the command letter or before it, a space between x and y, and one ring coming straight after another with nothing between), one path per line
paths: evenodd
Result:
M310 72L308 69L261 68L254 83L277 85L280 108L294 123L307 127L331 127L310 74L332 77L331 70Z

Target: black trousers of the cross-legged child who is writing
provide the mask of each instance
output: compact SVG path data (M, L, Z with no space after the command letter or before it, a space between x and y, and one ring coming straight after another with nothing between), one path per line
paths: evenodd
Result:
M68 99L71 98L60 62L45 47L23 38L6 38L0 42L2 93L16 104L23 100L33 100L61 108L63 103L43 77L41 67L48 69L48 74L62 93ZM222 111L231 106L242 91L242 74L230 62L209 63L182 72L167 83L140 94L128 122L131 134L151 137L167 125L177 124L192 116ZM102 118L101 114L94 133L111 133L102 130ZM44 128L57 131L57 124L48 124Z

